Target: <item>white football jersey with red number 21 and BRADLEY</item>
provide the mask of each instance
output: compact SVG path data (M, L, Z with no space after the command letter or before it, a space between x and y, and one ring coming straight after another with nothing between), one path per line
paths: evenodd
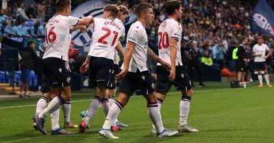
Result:
M125 33L125 27L119 22L104 18L94 18L94 32L88 55L114 60L115 47Z

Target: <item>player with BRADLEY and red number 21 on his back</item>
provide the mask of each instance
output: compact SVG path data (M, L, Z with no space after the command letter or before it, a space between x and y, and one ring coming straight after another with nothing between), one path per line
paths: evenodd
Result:
M89 66L91 86L97 87L99 90L96 90L96 95L90 103L88 112L79 125L79 133L86 131L88 123L96 114L100 103L105 109L105 114L108 114L110 108L106 89L112 74L115 48L121 35L125 33L123 24L115 22L118 13L119 7L117 5L107 5L103 10L103 18L94 19L92 44L90 44L88 58L80 67L80 72L86 72Z

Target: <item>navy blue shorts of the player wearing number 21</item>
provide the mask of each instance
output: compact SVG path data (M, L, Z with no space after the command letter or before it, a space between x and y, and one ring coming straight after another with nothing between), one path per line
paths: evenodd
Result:
M90 85L91 87L105 86L112 77L113 60L102 57L90 58Z

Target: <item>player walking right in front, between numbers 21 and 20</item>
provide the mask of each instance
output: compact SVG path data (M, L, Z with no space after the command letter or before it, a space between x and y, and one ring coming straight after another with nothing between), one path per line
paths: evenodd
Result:
M118 138L113 136L110 127L123 106L129 101L129 97L137 90L142 91L143 96L147 99L149 117L158 131L158 137L174 136L178 133L178 131L164 129L162 125L161 114L153 87L153 78L147 70L147 56L169 68L169 64L157 57L147 46L145 27L150 25L154 19L152 6L149 3L140 3L136 7L136 12L138 16L137 22L131 25L127 33L127 47L122 65L123 70L120 74L116 75L117 80L123 78L119 86L119 98L110 107L105 123L99 131L99 135L109 139Z

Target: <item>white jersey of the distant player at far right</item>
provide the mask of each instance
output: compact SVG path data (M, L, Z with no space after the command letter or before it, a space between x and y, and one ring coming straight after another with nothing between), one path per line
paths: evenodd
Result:
M264 59L266 51L269 50L269 46L267 46L266 44L256 44L253 46L253 52L255 52L255 54L262 54L261 57L255 57L254 61L255 62L262 62L262 61L266 61L266 59Z

